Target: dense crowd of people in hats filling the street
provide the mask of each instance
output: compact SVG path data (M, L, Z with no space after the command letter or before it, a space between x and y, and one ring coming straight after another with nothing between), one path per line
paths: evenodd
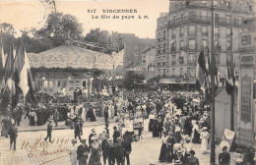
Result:
M195 156L195 148L192 143L201 144L202 154L206 154L209 148L211 135L211 121L209 106L205 104L204 97L198 93L186 94L183 92L115 92L107 95L103 101L90 103L80 102L75 104L40 104L32 107L30 104L19 103L2 120L2 137L10 136L11 144L16 149L16 138L23 113L30 120L31 126L42 126L47 124L47 136L44 140L51 141L53 122L58 127L59 121L65 121L67 126L74 129L73 147L70 150L71 164L93 164L99 165L100 157L103 164L130 164L129 154L131 142L142 137L144 120L149 119L148 128L153 138L160 138L160 162L199 165L199 159ZM101 116L105 121L105 130L96 135L96 130L87 140L82 138L83 125L86 121L95 122ZM113 136L109 136L109 119L114 119L117 127L113 128ZM135 138L135 131L138 135ZM80 140L81 145L76 147L75 143ZM12 147L12 145L11 145ZM228 164L227 148L219 156L220 164ZM250 151L248 158L253 161L254 151ZM239 154L240 153L240 154ZM237 151L235 157L240 161L241 152ZM244 159L243 159L244 160ZM244 161L242 162L244 163Z

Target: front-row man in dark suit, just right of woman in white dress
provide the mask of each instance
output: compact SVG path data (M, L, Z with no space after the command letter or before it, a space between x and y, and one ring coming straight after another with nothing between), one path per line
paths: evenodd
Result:
M79 165L87 165L87 159L90 149L87 145L86 139L82 139L81 142L82 144L78 146L77 150L77 160L79 162Z

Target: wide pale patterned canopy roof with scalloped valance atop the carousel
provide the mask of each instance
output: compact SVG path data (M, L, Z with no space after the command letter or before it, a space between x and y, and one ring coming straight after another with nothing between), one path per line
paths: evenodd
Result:
M65 44L38 54L28 53L28 57L32 68L111 70L122 65L123 54L124 50L109 55Z

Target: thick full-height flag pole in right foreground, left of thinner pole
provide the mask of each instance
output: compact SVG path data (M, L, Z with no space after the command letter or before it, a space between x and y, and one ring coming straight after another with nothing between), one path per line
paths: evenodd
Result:
M216 70L216 57L215 57L215 6L214 0L211 0L211 165L216 164L215 160L215 70Z

